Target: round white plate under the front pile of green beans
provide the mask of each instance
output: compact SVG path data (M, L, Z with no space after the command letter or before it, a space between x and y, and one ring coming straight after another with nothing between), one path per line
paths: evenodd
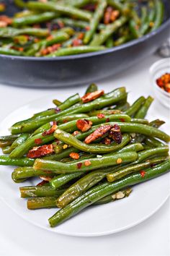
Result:
M68 96L69 93L65 91L64 97L62 98ZM134 101L138 96L132 92L130 93L130 98ZM51 103L52 100L53 95L49 95L13 111L12 114L1 122L0 135L6 135L8 128L14 122L53 106ZM148 118L151 120L158 117L165 121L168 119L164 108L161 109L160 105L157 106L156 103L153 103L149 112ZM167 124L164 125L163 130L169 130ZM40 226L42 229L47 229L58 234L71 236L102 236L129 229L153 215L156 210L161 208L161 205L164 204L170 194L170 175L165 174L149 182L135 186L133 193L128 198L110 202L107 205L90 207L65 223L62 223L60 226L51 229L48 226L48 218L56 212L56 209L27 210L26 200L19 198L19 187L33 185L35 181L14 184L11 179L12 170L13 167L0 166L1 199L15 213L26 221L30 221L35 226Z

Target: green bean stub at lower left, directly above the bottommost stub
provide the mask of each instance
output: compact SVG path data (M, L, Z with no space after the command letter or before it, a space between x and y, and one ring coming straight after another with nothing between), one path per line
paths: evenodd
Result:
M54 189L46 186L19 187L21 197L58 197L65 189Z

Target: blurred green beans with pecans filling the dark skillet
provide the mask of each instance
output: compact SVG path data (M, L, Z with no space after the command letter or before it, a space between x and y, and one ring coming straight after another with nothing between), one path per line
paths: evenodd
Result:
M5 19L1 14L0 54L55 57L120 46L164 20L164 1L134 2L15 0L18 12Z

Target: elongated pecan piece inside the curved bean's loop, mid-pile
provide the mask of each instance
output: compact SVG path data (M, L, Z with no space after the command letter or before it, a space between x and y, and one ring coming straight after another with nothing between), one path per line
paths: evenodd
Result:
M97 128L91 135L87 136L84 142L86 144L91 143L94 140L97 140L99 137L105 135L109 130L112 128L112 125L102 125L101 127Z

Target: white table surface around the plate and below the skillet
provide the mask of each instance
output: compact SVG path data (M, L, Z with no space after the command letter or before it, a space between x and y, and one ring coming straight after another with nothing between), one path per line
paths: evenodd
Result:
M126 86L138 95L153 95L148 68L158 59L150 56L138 66L97 82L102 88ZM0 74L1 75L1 74ZM6 75L10 75L10 72ZM94 81L95 82L95 81ZM133 87L130 87L133 85ZM84 86L67 88L83 93ZM0 85L0 121L11 111L41 96L62 94L62 89L37 90ZM159 109L159 108L158 108ZM161 108L161 111L166 111ZM168 112L167 112L168 114ZM3 166L0 167L0 174ZM0 175L1 176L1 175ZM1 188L0 188L1 192ZM0 200L0 255L170 255L170 200L151 218L138 226L109 236L73 237L42 230L19 218Z

